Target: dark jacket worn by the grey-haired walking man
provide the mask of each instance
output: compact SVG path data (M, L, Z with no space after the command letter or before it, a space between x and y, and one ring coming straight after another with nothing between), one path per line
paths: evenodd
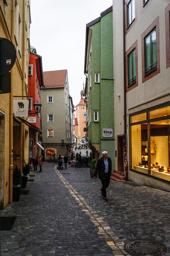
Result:
M99 173L98 175L99 179L102 180L102 178L104 177L104 171L105 171L105 164L104 164L104 157L102 157L97 162L94 177L97 177L97 173ZM108 157L108 174L110 174L110 176L111 176L111 172L112 172L112 160L110 157Z

